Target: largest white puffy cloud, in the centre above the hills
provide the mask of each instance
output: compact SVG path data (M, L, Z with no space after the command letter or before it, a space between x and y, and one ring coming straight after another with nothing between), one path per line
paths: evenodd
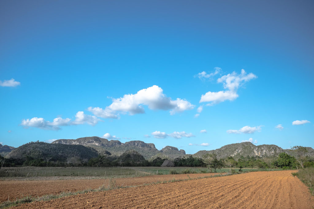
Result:
M195 106L185 99L171 100L163 93L159 86L151 86L138 91L136 94L125 94L120 98L113 98L111 105L102 109L89 107L88 110L101 118L119 118L119 112L130 115L145 113L143 105L151 110L170 110L170 114L191 110Z

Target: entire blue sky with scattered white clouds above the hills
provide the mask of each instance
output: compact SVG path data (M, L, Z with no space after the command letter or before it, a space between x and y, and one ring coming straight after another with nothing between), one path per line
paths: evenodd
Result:
M0 142L99 136L188 154L246 140L314 147L313 9L1 1Z

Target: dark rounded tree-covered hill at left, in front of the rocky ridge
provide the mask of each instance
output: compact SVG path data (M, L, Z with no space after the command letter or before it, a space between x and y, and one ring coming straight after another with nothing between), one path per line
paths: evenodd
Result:
M30 142L12 150L6 157L25 161L27 159L51 158L52 160L66 161L67 158L90 159L98 153L92 148L82 145L49 144L45 142Z

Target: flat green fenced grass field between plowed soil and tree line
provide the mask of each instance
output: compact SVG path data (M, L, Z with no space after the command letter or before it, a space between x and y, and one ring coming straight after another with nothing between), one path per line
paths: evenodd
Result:
M242 169L243 171L257 171L257 169ZM213 171L213 170L212 170ZM234 169L238 172L239 169ZM217 169L217 173L228 173L229 168ZM123 178L139 177L145 175L164 174L189 174L189 173L209 173L207 168L199 167L15 167L2 168L1 178L36 178L36 177L98 177L98 178Z

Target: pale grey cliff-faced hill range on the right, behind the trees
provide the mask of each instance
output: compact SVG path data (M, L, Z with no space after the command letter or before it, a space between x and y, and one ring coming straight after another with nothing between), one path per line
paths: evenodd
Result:
M314 156L314 149L306 147L307 155ZM193 157L202 157L205 154L217 154L218 158L226 158L232 156L235 159L241 156L249 157L273 157L278 156L280 153L285 152L290 155L294 155L291 149L282 149L274 144L262 144L254 145L251 142L242 142L236 144L228 144L215 150L201 150L193 154Z

